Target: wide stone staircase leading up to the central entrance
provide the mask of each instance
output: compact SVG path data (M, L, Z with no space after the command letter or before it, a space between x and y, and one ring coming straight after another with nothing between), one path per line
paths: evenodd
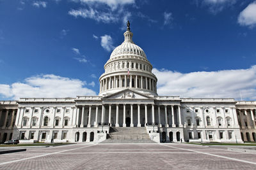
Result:
M149 139L146 127L110 127L101 143L155 143Z

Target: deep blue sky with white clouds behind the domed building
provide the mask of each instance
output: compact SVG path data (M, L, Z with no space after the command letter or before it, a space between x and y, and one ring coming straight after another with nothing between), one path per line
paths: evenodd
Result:
M256 101L256 1L0 0L0 100L99 94L127 20L159 96Z

